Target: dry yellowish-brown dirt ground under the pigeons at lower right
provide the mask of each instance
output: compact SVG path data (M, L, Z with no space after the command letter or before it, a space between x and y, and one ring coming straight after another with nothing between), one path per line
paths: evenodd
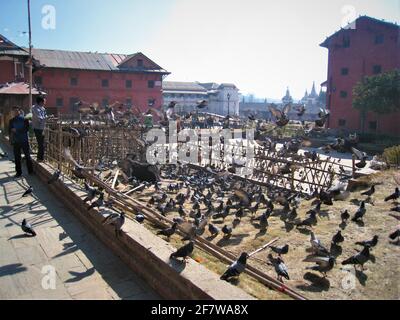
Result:
M208 230L203 234L207 240L219 245L225 250L239 255L241 252L252 252L270 240L279 237L276 245L289 244L289 253L283 256L283 260L288 267L290 280L285 284L306 296L309 299L322 300L344 300L344 299L399 299L400 298L400 246L393 243L388 235L394 231L399 224L395 218L389 215L392 202L384 202L384 198L394 192L396 187L393 179L394 171L380 172L368 177L364 177L369 184L376 184L376 192L372 197L373 205L367 204L367 212L363 218L364 223L355 223L349 220L347 225L341 224L340 212L348 209L351 216L356 212L359 201L366 196L361 196L361 192L366 189L351 193L346 201L335 201L333 206L322 206L321 214L318 216L318 223L313 227L313 231L318 239L329 249L332 236L338 230L342 230L345 237L341 249L335 252L336 264L324 278L317 271L306 270L312 263L303 262L310 255L310 232L307 229L297 229L285 224L281 216L281 207L275 205L273 215L268 220L267 230L260 230L256 222L250 219L248 213L242 218L240 224L236 225L230 239L223 239L222 235L210 238ZM367 188L368 189L368 188ZM150 191L150 192L149 192ZM138 197L147 201L151 190ZM173 198L173 194L170 194ZM311 201L303 200L298 212L298 217L305 217L305 213L312 207ZM204 206L202 206L202 209ZM260 206L257 215L260 215L265 208ZM400 214L397 214L400 216ZM168 217L178 216L176 212L171 212ZM234 216L230 215L225 219L212 222L218 227L224 224L234 224ZM147 224L149 229L154 232L157 229ZM371 250L371 259L365 264L365 270L355 271L353 266L343 266L341 262L357 253L362 247L355 245L357 241L370 240L374 235L379 236L379 242ZM177 247L182 245L180 237L171 238L171 243ZM266 272L272 277L276 277L273 267L266 264L267 255L271 251L264 250L252 256L248 263ZM196 249L193 258L205 265L217 274L222 274L226 269L226 264L218 259ZM234 283L259 299L275 300L289 299L281 292L271 290L252 279L247 275L241 275L237 283Z

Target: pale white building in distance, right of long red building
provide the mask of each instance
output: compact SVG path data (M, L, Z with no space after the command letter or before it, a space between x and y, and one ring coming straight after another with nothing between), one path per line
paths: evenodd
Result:
M239 89L234 84L163 81L164 107L175 101L176 112L192 112L197 102L206 100L208 106L201 110L226 116L239 115Z

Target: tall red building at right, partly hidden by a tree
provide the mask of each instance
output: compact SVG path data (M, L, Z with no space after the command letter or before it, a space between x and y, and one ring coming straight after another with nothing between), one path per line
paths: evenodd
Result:
M363 77L400 69L400 27L363 16L321 46L329 50L325 83L329 127L400 136L400 113L368 113L363 125L360 112L352 108L353 87Z

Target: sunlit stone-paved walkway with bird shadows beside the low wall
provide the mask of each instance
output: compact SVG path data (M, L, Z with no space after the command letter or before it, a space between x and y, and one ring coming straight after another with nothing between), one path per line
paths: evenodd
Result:
M0 159L0 300L159 299L38 178L14 174L14 163ZM34 195L21 198L29 185ZM24 236L24 218L37 237ZM55 289L45 289L52 281Z

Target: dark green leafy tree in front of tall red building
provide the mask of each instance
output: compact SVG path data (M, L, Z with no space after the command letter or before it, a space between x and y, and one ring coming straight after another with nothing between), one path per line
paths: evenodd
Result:
M400 111L400 70L365 77L353 88L353 108L361 113L362 131L367 112Z

